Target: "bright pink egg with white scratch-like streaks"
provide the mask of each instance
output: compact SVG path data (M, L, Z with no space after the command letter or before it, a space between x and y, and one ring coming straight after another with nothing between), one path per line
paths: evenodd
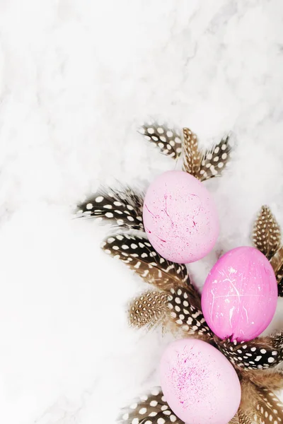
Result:
M202 312L220 338L249 341L270 324L278 289L270 262L254 247L237 247L221 257L202 290Z

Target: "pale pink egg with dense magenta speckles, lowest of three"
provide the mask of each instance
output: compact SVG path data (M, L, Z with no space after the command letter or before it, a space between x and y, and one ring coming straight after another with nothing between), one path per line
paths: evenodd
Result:
M201 340L174 341L161 358L161 387L168 405L187 424L227 424L241 401L229 360Z

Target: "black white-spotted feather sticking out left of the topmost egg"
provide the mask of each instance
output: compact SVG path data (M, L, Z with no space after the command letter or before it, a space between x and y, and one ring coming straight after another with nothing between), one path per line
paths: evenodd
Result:
M144 230L142 207L144 194L130 187L102 188L77 206L79 218L102 218L123 228Z

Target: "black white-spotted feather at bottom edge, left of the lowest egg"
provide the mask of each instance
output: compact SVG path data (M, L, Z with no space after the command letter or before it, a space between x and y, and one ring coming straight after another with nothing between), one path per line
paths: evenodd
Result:
M119 424L185 424L168 406L161 387L154 387L124 408Z

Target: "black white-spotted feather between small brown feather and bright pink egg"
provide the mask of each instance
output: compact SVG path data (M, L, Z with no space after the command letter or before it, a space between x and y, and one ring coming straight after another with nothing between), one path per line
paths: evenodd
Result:
M168 309L173 323L180 327L186 336L212 340L213 334L207 326L199 306L200 297L192 285L187 288L171 288L168 296Z

